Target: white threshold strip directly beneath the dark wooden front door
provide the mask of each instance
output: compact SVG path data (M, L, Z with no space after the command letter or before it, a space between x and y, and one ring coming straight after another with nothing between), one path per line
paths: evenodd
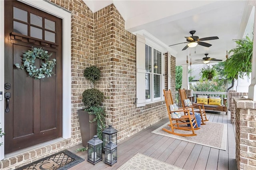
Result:
M34 145L34 146L30 146L28 148L21 149L21 150L15 151L15 152L11 152L11 153L5 154L4 159L11 158L11 157L14 157L14 156L17 156L17 155L20 155L20 154L24 154L24 153L29 152L31 150L36 150L38 148L41 148L41 147L44 147L44 146L47 146L47 145L50 145L50 144L54 144L54 143L60 142L62 140L64 140L64 138L57 138L57 139L50 140L50 141L47 141L47 142L43 142L43 143L40 143L40 144L37 144L37 145Z

